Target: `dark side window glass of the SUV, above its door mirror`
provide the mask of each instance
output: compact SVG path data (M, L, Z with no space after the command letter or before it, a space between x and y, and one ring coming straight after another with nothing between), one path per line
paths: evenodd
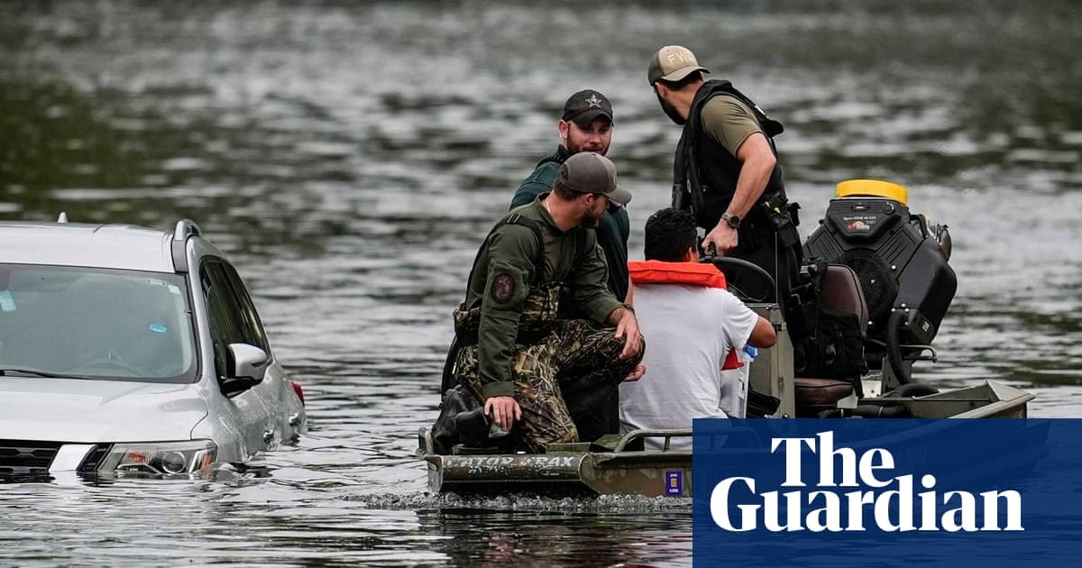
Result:
M254 345L269 355L266 334L236 270L221 260L210 259L200 267L199 280L207 296L217 375L225 377L230 343Z

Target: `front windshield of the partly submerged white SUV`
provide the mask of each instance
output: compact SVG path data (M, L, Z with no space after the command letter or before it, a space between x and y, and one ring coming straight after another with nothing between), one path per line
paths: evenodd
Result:
M195 378L184 277L0 264L0 370L181 383Z

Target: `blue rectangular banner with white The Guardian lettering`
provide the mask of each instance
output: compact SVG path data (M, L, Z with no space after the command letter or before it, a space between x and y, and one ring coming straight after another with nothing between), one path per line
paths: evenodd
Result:
M695 420L698 566L1078 566L1082 420Z

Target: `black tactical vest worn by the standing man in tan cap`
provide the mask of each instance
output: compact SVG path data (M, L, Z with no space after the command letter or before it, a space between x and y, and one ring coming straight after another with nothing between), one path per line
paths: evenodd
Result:
M742 163L729 154L702 128L702 107L718 95L728 95L748 105L755 116L760 130L766 135L770 150L778 155L774 136L784 130L781 122L766 116L751 98L737 91L726 80L703 83L696 93L688 111L684 132L676 146L673 162L673 207L689 211L696 224L710 230L717 225L722 214L729 207L740 177ZM781 167L775 166L770 180L757 203L766 202L770 209L786 209L786 187L781 180ZM765 208L753 207L748 216L763 214Z

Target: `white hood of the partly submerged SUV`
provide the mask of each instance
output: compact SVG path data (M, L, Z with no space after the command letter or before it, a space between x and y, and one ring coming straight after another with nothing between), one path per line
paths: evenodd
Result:
M193 384L0 377L0 438L186 440L206 415Z

